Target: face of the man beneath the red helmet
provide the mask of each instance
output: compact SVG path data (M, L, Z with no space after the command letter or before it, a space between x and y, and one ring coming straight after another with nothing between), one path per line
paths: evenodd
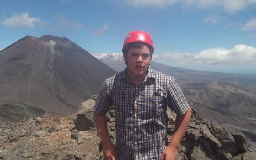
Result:
M127 60L127 65L129 67L128 75L135 77L142 77L146 75L147 68L150 64L150 50L147 46L142 46L141 48L130 48L127 54L123 54L124 60Z

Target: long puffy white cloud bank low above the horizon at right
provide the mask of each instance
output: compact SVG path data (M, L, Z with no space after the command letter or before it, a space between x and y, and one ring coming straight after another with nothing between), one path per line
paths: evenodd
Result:
M235 45L232 49L209 48L197 54L167 52L159 58L168 59L173 62L256 65L256 48L239 44Z

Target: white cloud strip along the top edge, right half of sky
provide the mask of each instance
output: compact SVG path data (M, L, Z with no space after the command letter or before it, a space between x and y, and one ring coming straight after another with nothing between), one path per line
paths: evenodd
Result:
M245 8L248 6L255 6L256 0L129 0L125 1L125 3L136 7L164 7L167 5L173 5L175 3L180 3L186 8L221 7L227 13L235 14L239 11L245 10Z

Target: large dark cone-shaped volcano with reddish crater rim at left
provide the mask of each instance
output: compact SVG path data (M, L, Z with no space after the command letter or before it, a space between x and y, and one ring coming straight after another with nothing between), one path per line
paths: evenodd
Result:
M114 74L67 38L26 36L0 51L0 103L69 115Z

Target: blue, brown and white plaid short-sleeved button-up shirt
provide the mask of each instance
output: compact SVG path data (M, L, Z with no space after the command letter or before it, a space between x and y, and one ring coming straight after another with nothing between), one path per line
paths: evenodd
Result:
M126 70L108 78L94 111L104 115L114 105L116 148L119 160L160 159L167 138L167 105L176 114L189 109L174 78L149 68L138 86Z

